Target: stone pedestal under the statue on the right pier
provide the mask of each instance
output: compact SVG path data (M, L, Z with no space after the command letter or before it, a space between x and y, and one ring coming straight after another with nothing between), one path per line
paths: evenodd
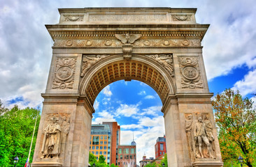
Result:
M220 167L223 166L223 162L217 159L197 159L192 164L193 167Z

